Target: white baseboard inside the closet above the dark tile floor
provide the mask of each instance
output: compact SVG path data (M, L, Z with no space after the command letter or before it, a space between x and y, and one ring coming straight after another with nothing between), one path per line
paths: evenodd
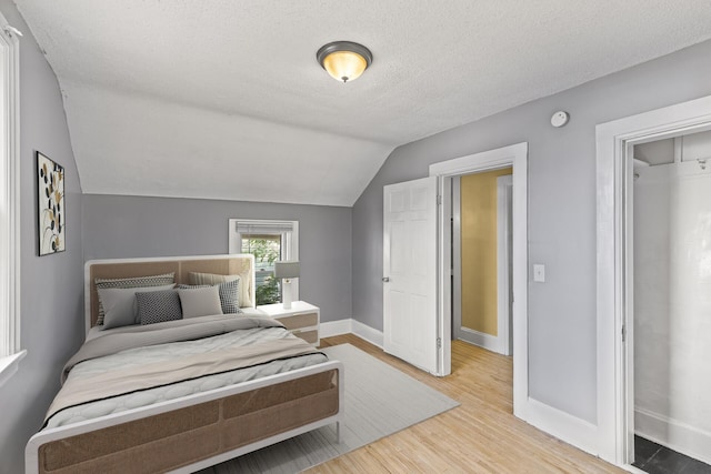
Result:
M711 433L707 431L640 407L634 410L634 431L654 443L711 464Z

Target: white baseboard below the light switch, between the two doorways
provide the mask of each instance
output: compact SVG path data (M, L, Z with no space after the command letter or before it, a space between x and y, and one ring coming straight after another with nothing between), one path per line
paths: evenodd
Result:
M598 426L592 423L531 397L528 399L523 412L524 421L537 428L587 453L598 455Z

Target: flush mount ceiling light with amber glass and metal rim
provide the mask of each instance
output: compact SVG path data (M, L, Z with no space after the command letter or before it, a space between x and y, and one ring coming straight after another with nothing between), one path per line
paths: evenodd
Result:
M316 53L319 64L337 81L352 81L373 62L368 48L351 41L323 44Z

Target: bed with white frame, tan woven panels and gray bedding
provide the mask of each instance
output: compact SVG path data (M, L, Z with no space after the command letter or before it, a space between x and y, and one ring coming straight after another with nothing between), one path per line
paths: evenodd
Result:
M100 307L99 292L108 292L97 284L163 274L204 294L217 290L181 285L200 274L239 275L224 280L239 280L247 304L241 314L109 327L117 313ZM136 300L163 293L141 291ZM330 424L338 438L343 365L260 315L252 255L90 261L84 299L87 342L27 444L27 473L188 473ZM181 301L189 310L192 300ZM224 309L222 293L220 301Z

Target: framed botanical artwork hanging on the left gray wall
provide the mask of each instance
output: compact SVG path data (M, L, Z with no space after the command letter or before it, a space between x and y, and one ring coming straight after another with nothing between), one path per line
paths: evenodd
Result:
M63 252L66 248L64 167L39 151L34 153L37 155L38 243L39 254L42 256Z

